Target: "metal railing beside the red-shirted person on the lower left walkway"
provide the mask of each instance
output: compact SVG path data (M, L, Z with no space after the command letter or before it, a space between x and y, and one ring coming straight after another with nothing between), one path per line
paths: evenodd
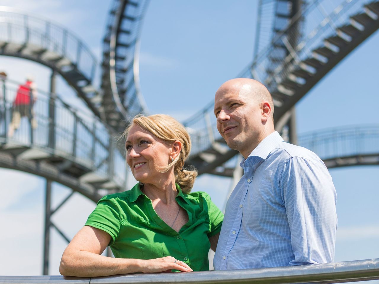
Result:
M36 90L36 102L18 109L19 128L9 131L16 123L12 116L17 111L17 92L18 83L0 80L0 144L38 149L82 165L119 186L125 184L124 156L117 147L121 142L97 117L69 106L59 96L52 98Z

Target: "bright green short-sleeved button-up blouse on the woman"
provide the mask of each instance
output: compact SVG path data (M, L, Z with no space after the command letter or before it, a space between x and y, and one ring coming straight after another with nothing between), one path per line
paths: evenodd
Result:
M154 259L172 256L194 271L209 270L208 238L220 232L224 215L208 193L185 194L178 185L176 187L176 201L189 218L179 233L157 215L139 184L131 190L100 199L86 225L110 234L109 245L115 257Z

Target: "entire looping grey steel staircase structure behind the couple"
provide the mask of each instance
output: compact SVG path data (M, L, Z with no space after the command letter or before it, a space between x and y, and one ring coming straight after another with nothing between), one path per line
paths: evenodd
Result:
M0 101L0 167L47 180L44 274L48 273L50 227L69 241L51 215L74 192L97 201L106 193L125 188L124 145L115 136L131 117L147 113L138 65L139 35L148 3L113 0L103 38L99 87L93 85L95 56L74 33L49 20L0 6L0 55L32 60L52 69L50 92L38 91L38 101L29 106L29 115L12 135L9 124L19 83L0 80L5 94ZM379 28L379 1L260 0L258 10L262 25L257 27L254 59L238 77L254 78L268 87L274 98L276 128L294 141L294 105ZM55 91L56 74L73 87L94 115L83 115L61 100ZM234 166L228 161L237 152L227 147L216 130L213 102L184 124L193 142L188 164L200 175L233 176ZM340 151L346 148L343 141L366 145L367 139L377 139L378 132L377 126L370 126L312 133L299 137L298 144L318 153L328 167L378 164L377 148ZM329 148L337 154L323 157L322 151ZM54 209L50 204L52 181L73 190Z

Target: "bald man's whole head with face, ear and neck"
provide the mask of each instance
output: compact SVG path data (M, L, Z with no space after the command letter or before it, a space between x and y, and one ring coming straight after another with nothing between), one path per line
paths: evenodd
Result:
M244 158L275 131L273 111L271 94L252 79L226 81L215 95L217 129L228 146Z

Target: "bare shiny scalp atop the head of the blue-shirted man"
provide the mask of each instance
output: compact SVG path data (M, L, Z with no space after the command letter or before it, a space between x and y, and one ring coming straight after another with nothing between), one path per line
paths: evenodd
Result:
M217 92L223 93L233 90L241 95L246 95L247 97L257 101L257 103L262 103L263 101L268 101L271 106L271 118L274 121L274 101L268 89L262 83L254 79L249 78L235 78L226 81L222 84Z

